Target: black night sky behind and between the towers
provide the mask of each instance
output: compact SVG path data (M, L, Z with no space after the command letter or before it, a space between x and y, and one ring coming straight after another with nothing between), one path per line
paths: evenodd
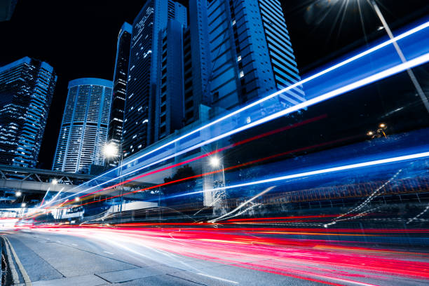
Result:
M365 46L365 39L384 36L365 0L281 1L301 73ZM51 167L67 83L81 77L112 79L118 31L124 21L132 23L144 2L20 0L13 18L0 22L0 66L29 56L48 62L58 75L39 167ZM377 2L392 29L429 14L427 0Z

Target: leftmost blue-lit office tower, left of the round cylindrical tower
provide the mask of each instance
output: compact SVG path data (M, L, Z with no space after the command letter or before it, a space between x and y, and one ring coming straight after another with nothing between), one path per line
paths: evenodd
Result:
M23 57L0 67L0 163L36 167L57 76Z

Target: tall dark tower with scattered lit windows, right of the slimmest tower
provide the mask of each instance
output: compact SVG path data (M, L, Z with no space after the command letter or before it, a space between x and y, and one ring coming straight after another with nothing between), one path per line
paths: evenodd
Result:
M148 0L132 23L130 62L123 122L124 156L154 141L158 44L168 19L186 25L186 8L175 1Z

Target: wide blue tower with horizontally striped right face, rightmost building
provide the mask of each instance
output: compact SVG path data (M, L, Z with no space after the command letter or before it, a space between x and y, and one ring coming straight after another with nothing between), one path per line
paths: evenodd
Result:
M212 106L231 109L300 80L278 0L213 0L207 6ZM282 106L304 91L280 95Z

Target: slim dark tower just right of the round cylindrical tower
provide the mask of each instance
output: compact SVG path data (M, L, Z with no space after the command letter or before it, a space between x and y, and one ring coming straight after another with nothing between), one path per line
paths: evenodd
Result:
M107 141L120 146L122 141L123 110L125 109L125 93L127 90L128 59L130 57L132 26L124 22L119 31L116 45L116 61L113 81L113 95L109 119ZM117 163L118 158L112 163Z

